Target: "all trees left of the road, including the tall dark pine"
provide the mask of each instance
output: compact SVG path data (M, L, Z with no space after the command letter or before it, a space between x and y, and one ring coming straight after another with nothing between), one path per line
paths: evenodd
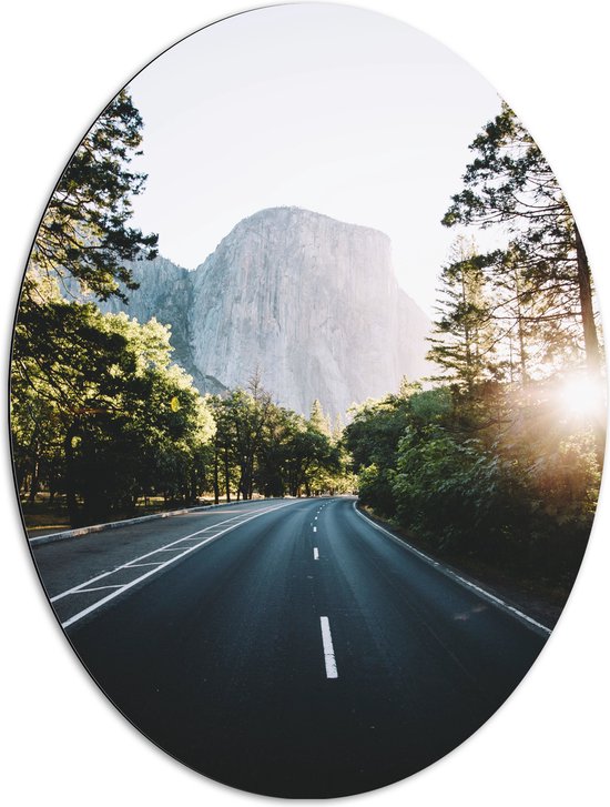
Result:
M126 261L156 236L130 226L145 176L131 168L142 120L122 91L80 144L45 210L21 291L11 362L11 437L19 491L61 497L72 525L130 513L139 500L193 503L337 491L345 457L319 404L277 406L255 373L246 390L202 397L171 363L152 320L71 301L136 288Z

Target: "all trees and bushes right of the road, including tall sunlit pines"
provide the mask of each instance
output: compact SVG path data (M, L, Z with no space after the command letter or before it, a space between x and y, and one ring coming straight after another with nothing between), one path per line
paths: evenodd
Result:
M440 274L433 389L354 413L363 502L454 558L571 581L606 442L591 275L556 178L502 105L470 147L444 218L462 228ZM481 252L472 230L499 231ZM470 233L469 233L470 230Z

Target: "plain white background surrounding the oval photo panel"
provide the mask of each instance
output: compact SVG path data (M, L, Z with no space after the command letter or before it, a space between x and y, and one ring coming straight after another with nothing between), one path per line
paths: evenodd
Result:
M540 143L582 232L608 324L608 79L599 0L425 0L360 3L393 14L465 57ZM101 108L131 75L192 30L247 8L224 0L27 2L4 11L2 373L20 275L59 172ZM606 53L606 56L604 56ZM3 411L7 410L4 396ZM24 546L6 426L2 542L2 795L11 806L252 804L144 740L109 706L57 627ZM604 485L607 488L608 485ZM606 491L606 493L608 493ZM608 495L559 627L525 684L469 742L370 805L607 804ZM315 776L315 770L312 770Z

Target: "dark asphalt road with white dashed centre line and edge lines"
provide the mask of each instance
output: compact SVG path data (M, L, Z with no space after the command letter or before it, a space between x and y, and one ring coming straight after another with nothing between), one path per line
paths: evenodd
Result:
M548 635L348 497L243 503L34 557L115 706L195 770L267 796L347 796L430 765Z

